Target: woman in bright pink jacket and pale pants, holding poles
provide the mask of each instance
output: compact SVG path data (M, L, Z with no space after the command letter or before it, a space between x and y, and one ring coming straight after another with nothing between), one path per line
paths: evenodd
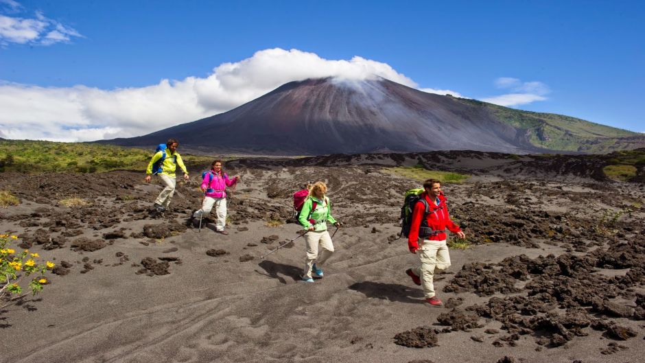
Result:
M202 202L202 209L195 211L192 215L193 224L197 224L203 215L211 213L213 204L215 204L215 211L218 215L218 222L215 224L215 231L228 235L224 230L226 226L226 187L232 187L237 183L239 175L229 179L228 175L222 171L222 161L215 160L211 164L209 172L204 174L202 180L202 191L204 191L204 201Z

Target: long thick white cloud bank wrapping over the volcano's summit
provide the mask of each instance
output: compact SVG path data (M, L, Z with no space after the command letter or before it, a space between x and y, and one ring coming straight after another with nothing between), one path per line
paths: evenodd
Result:
M322 77L383 77L417 87L382 62L361 57L326 60L297 49L266 49L240 62L224 63L206 78L161 80L142 88L106 91L0 81L0 129L9 139L133 137L231 110L287 82Z

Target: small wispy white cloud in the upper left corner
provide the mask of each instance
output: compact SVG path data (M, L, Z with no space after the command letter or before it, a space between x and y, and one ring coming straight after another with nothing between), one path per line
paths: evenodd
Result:
M21 5L16 1L0 0L0 4L8 8L5 12L13 13L21 9ZM71 37L82 37L72 27L48 19L42 12L36 12L35 15L35 19L24 19L0 14L0 45L3 47L10 43L52 45L69 42Z

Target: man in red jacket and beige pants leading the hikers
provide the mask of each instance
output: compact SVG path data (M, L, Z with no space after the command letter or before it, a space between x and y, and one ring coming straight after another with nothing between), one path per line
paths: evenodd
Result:
M421 266L408 268L406 274L417 285L423 285L423 295L427 303L441 306L443 303L435 296L432 279L435 268L445 270L450 266L445 229L456 233L460 238L465 238L466 235L450 220L439 180L425 180L423 189L425 191L421 194L421 199L414 204L408 234L408 248L411 253L419 255Z

